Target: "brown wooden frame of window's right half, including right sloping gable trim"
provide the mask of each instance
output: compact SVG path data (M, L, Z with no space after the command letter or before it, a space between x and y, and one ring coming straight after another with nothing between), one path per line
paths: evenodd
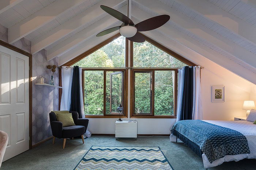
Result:
M169 48L163 46L162 44L158 43L157 41L151 39L150 37L144 35L143 33L140 33L141 35L144 36L144 38L146 39L146 41L148 41L149 43L153 44L154 46L156 46L157 48L159 48L160 50L166 52L167 54L173 56L174 58L180 60L181 62L187 64L188 66L197 66L195 63L191 62L190 60L184 58L183 56L177 54L176 52L170 50ZM130 41L130 63L131 63L131 67L133 68L133 42ZM174 115L154 115L154 94L152 96L152 105L151 108L152 110L152 114L135 114L135 109L134 109L134 104L135 104L135 72L137 71L153 71L153 80L152 80L152 90L154 92L154 86L155 86L155 76L154 73L155 71L175 71L175 86L174 86ZM178 68L133 68L131 70L131 74L130 74L130 86L131 86L131 90L130 90L130 118L169 118L169 119L176 119L177 116L177 97L178 97Z

